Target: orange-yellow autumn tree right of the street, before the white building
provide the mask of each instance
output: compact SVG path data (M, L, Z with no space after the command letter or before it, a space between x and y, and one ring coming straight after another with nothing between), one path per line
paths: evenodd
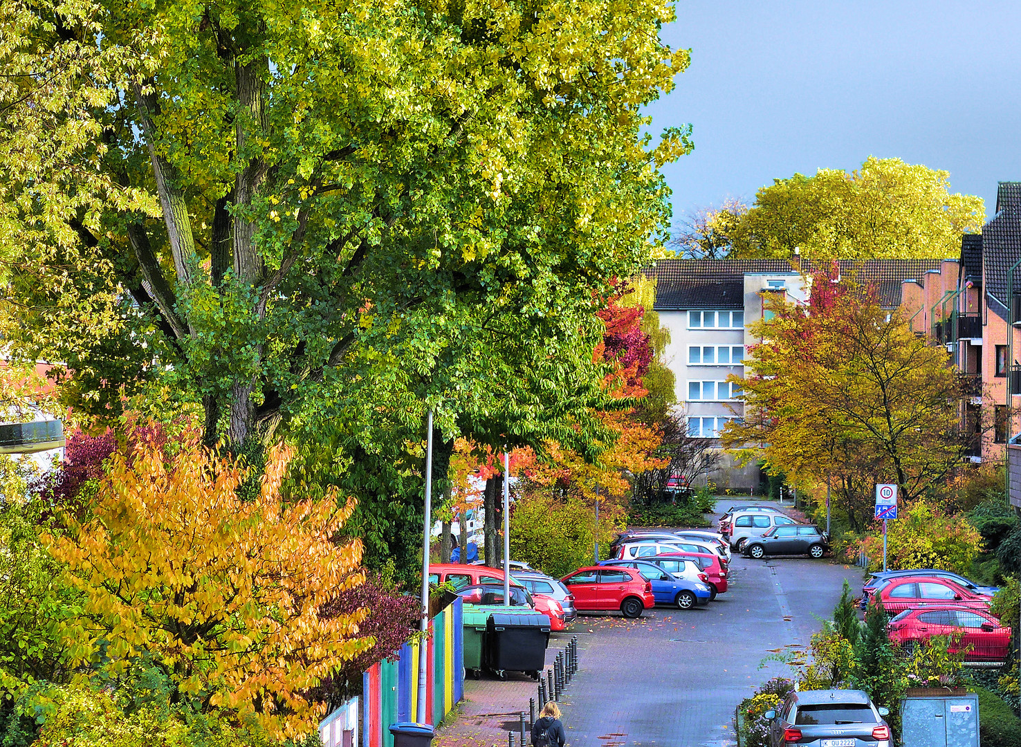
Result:
M814 277L808 305L774 300L772 318L752 325L762 342L746 375L732 377L744 417L723 443L792 482L831 480L857 530L872 516L876 483L895 483L906 501L938 491L968 441L946 351L883 309L871 287L833 280Z

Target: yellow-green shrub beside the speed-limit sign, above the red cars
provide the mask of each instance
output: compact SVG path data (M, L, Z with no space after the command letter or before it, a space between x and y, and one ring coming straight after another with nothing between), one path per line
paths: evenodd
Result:
M982 549L982 538L961 514L947 515L923 499L904 508L886 528L887 557L891 570L939 568L966 574ZM882 527L862 540L869 568L882 565Z

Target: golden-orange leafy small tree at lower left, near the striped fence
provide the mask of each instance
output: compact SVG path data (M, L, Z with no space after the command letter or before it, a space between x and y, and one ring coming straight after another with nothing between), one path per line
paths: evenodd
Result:
M83 594L63 630L71 662L116 677L145 658L182 699L271 738L312 729L324 704L308 689L372 640L358 636L366 609L321 614L363 580L360 541L334 541L353 501L285 501L291 454L271 450L249 501L246 469L196 442L173 461L149 444L111 456L91 515L45 537Z

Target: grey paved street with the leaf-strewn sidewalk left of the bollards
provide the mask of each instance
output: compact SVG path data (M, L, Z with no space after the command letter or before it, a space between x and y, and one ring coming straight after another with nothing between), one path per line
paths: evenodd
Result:
M716 517L714 517L716 518ZM729 747L734 707L755 687L790 668L771 653L806 646L833 611L843 580L862 572L830 559L751 560L734 555L732 586L707 607L658 607L640 619L582 615L550 639L547 662L570 635L581 670L562 699L575 747ZM762 667L762 668L760 668ZM535 685L525 678L466 683L459 717L440 730L437 747L507 744Z

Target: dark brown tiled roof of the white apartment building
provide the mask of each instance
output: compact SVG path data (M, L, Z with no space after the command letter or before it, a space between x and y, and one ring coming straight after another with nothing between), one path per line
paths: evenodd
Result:
M926 273L938 271L942 261L842 259L838 264L841 277L855 276L860 282L874 284L882 306L895 308L901 305L901 284L914 280L924 286ZM806 273L832 266L829 261L798 263L786 259L659 259L645 269L645 275L657 279L658 310L742 308L746 273L797 272L799 264Z

